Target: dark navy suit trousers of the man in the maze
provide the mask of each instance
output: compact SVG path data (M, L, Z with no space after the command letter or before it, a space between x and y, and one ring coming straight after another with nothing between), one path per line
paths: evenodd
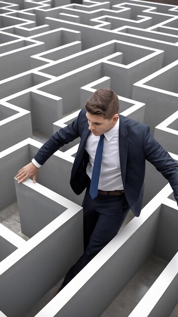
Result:
M89 187L82 203L84 210L84 254L66 273L59 291L118 233L129 206L125 194L102 195L92 200Z

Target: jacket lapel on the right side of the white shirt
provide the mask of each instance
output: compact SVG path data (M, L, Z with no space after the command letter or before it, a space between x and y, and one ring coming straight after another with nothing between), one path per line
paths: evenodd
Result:
M121 165L122 182L125 187L125 176L127 166L127 154L128 154L128 139L127 128L123 120L123 116L119 115L119 156Z

